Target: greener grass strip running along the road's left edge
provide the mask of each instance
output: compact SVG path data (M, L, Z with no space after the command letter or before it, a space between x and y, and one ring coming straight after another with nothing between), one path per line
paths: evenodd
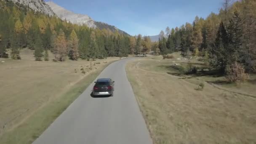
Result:
M114 61L113 61L114 62ZM0 144L31 144L95 80L104 66L87 75L58 99L49 102L24 123L0 137Z

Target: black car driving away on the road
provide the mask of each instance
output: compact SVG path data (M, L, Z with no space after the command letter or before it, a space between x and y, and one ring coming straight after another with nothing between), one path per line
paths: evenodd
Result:
M115 81L110 78L101 78L94 83L93 96L113 96Z

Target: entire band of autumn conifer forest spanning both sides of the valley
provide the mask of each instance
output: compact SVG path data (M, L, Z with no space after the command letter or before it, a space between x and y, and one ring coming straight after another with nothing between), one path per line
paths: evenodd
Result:
M184 57L201 57L223 74L234 68L256 72L255 0L224 0L218 14L211 13L205 19L196 16L192 24L167 27L157 43L147 36L71 24L8 0L0 3L0 57L8 57L6 51L11 49L12 59L22 59L21 48L35 50L37 61L49 60L48 51L54 53L55 61L64 61L67 56L72 60L104 59L181 51Z

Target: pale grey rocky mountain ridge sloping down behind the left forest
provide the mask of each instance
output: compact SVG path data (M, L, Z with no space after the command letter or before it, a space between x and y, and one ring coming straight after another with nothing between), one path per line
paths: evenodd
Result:
M118 31L119 33L128 35L128 33L118 29L115 26L106 24L104 22L94 21L91 17L85 14L77 14L72 11L66 10L65 8L53 3L51 1L47 2L54 13L62 20L66 19L73 24L87 25L88 27L99 28L99 29L110 29L112 32Z

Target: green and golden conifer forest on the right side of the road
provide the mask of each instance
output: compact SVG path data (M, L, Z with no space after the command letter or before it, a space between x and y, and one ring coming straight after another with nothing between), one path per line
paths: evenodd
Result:
M162 54L181 51L185 57L200 56L225 74L235 69L256 72L256 1L224 0L219 14L167 27L160 32L158 48Z

